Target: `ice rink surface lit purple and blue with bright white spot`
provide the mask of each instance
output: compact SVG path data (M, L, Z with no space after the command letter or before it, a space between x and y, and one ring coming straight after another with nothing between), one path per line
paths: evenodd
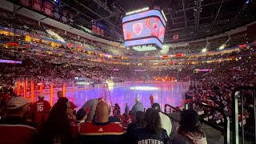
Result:
M162 110L164 110L165 104L172 106L181 106L184 102L184 96L186 90L188 90L188 82L162 82L162 83L130 83L130 84L116 84L110 85L110 97L106 92L106 101L112 106L115 103L121 107L122 113L124 113L126 103L129 106L129 110L134 106L134 99L140 99L145 108L150 107L150 94L154 97L154 102L158 102ZM66 91L66 98L69 98L71 102L74 102L78 110L86 101L93 98L102 98L102 86L95 85L94 87L87 88L86 90ZM50 102L50 94L46 94L45 99ZM54 91L54 103L57 102L57 91Z

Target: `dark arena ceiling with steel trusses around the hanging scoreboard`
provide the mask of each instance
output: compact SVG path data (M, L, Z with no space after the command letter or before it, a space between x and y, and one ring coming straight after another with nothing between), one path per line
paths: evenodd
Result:
M123 41L122 16L158 5L166 14L165 43L190 41L221 34L255 21L255 0L61 0L78 15L78 24L92 21L108 28L106 34ZM179 40L173 41L178 34Z

